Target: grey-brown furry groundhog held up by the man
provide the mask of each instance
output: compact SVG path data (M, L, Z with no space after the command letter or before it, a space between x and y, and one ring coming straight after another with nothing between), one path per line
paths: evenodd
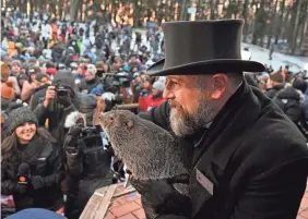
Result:
M157 180L188 174L177 141L166 130L128 110L100 114L100 126L134 179ZM181 194L188 185L175 183Z

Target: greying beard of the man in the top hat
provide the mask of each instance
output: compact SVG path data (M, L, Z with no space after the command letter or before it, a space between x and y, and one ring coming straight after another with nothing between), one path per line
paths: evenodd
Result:
M169 102L169 105L171 107L170 126L177 136L194 134L213 119L213 108L205 97L198 98L198 106L193 113L185 111L178 104Z

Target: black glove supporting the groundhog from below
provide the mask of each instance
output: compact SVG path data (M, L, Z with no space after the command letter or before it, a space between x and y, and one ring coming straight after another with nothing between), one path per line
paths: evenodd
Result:
M188 180L189 175L147 181L131 179L131 184L141 194L144 209L150 215L190 217L192 210L190 198L177 192L173 186L173 183L188 183Z

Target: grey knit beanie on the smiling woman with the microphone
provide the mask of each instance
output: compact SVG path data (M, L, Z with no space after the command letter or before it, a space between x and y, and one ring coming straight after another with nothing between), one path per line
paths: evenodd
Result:
M29 107L21 107L12 110L9 113L9 132L13 133L17 126L26 122L34 122L36 126L38 125L37 118L31 111Z

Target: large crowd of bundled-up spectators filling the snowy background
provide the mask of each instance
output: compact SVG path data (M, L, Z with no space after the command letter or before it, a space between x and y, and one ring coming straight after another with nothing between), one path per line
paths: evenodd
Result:
M79 218L96 188L123 177L99 130L99 114L120 106L139 113L165 101L165 77L146 75L164 58L163 35L156 27L141 34L120 24L2 15L2 216L5 204ZM269 68L246 78L306 135L305 72Z

